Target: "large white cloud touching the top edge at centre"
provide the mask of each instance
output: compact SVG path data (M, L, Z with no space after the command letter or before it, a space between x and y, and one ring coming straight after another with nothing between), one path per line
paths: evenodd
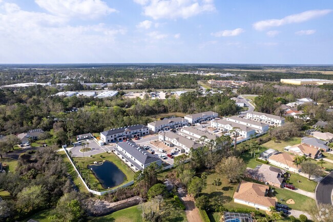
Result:
M154 19L189 18L215 11L213 0L134 0L143 6L143 14Z

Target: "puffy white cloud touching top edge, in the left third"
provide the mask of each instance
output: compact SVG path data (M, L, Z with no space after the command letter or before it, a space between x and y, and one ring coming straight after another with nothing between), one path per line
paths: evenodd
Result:
M64 17L98 18L116 12L100 0L35 0L48 12Z

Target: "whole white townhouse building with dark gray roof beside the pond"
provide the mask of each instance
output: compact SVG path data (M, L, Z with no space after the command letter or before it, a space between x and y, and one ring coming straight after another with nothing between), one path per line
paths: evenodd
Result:
M152 163L156 163L158 166L162 165L160 158L141 149L132 141L118 143L113 148L113 152L134 171L143 170Z

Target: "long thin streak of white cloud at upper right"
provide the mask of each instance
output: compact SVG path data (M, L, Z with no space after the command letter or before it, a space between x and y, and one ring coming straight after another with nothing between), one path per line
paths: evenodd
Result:
M310 19L326 15L326 14L330 13L331 11L332 11L331 9L309 10L309 11L305 11L305 12L302 12L299 14L288 15L281 19L268 19L268 20L259 21L259 22L254 23L253 27L256 30L261 31L261 30L264 30L267 28L283 26L286 24L302 23L302 22L306 22Z

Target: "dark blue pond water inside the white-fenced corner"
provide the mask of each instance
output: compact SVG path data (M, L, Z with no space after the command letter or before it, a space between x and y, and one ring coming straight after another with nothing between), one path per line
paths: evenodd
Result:
M123 183L126 176L114 163L106 160L101 165L88 165L104 189L109 189Z

